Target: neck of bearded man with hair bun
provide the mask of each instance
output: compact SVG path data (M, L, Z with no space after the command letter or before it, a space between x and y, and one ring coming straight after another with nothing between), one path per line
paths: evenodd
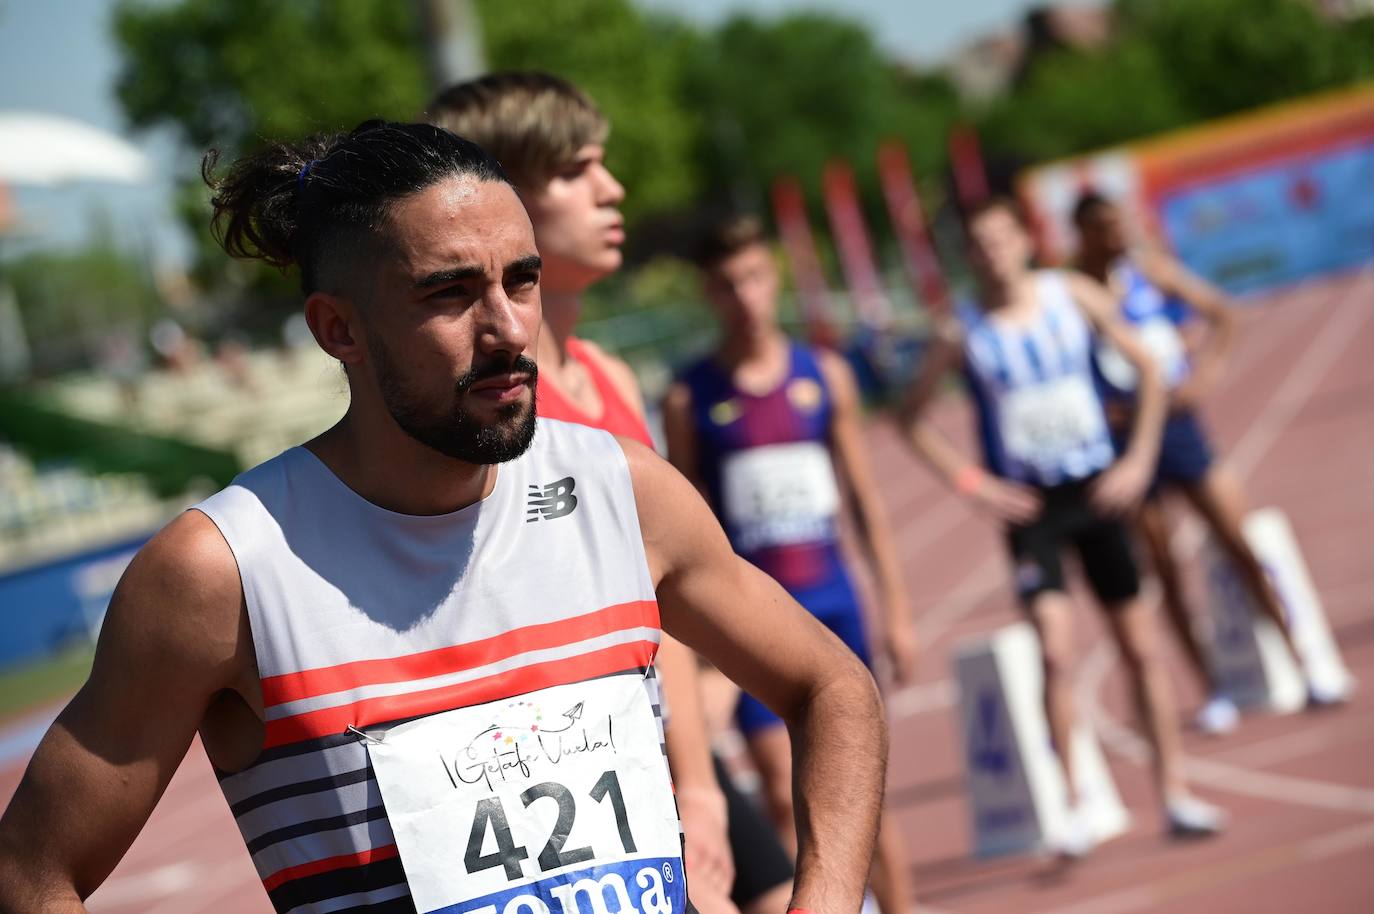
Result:
M306 443L360 496L397 514L449 514L475 504L496 485L497 467L466 463L420 444L390 418L349 405L328 432Z

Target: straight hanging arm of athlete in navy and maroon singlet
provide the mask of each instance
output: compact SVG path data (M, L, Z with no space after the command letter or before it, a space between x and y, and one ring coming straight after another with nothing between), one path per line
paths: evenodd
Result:
M845 360L833 352L820 352L820 371L833 404L830 440L837 458L835 469L849 488L855 528L878 583L886 625L885 647L892 660L893 679L901 684L915 668L916 632L911 620L907 583L901 577L901 566L892 544L892 526L864 452L859 385Z

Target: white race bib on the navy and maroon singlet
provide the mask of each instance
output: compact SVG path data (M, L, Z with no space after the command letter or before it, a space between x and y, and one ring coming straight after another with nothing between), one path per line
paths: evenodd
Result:
M819 441L769 444L725 458L721 510L739 551L813 543L833 536L840 488Z

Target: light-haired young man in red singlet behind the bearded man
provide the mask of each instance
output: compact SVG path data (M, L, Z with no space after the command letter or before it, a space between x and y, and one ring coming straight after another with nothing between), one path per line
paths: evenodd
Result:
M576 335L583 296L620 269L625 241L625 191L605 161L606 118L572 82L528 71L448 87L426 115L500 159L534 225L544 258L544 328L536 353L540 415L653 447L629 366ZM736 904L745 914L780 914L791 863L728 778L717 779L691 651L665 639L658 672L687 871L697 888L692 900L703 914L732 914Z

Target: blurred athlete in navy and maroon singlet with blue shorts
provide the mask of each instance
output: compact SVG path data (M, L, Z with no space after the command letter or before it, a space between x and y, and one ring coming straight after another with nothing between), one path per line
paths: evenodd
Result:
M915 632L864 454L853 374L841 356L783 333L778 265L757 220L735 217L717 225L702 241L697 263L720 323L720 345L668 390L668 456L712 503L735 551L768 572L868 664L859 597L840 550L841 489L848 489L878 588L881 643L893 679L904 683L915 662ZM796 848L787 733L747 693L741 694L736 719L774 821ZM874 895L883 914L912 910L905 854L890 819L879 838Z

